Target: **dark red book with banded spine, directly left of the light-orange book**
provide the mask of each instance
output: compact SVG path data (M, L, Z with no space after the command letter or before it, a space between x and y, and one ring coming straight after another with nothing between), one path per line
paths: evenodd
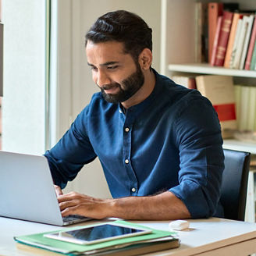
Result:
M219 32L219 41L216 52L215 66L223 66L229 34L233 20L233 12L223 12L222 25Z

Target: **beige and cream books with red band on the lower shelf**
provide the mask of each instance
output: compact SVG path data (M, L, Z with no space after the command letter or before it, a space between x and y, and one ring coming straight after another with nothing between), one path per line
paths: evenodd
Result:
M173 75L171 79L189 89L197 89L208 98L222 126L222 137L235 131L256 131L256 85L233 84L232 76Z

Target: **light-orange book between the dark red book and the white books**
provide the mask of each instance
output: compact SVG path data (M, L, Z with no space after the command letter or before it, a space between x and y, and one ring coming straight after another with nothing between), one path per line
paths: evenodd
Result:
M236 36L237 23L240 17L241 15L238 12L233 14L233 20L232 20L232 25L231 25L230 34L229 34L229 42L226 47L226 55L224 60L224 66L226 68L229 68L229 62L230 62L231 53L233 49L233 43L235 41L235 36Z

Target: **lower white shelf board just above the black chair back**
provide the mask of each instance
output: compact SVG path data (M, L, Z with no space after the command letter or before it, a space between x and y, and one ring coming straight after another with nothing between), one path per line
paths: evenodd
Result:
M250 152L256 155L256 143L240 140L224 140L223 148Z

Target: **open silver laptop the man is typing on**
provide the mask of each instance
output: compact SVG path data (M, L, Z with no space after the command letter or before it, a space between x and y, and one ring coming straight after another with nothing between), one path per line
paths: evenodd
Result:
M90 219L62 219L47 158L6 151L0 151L0 216L57 226Z

